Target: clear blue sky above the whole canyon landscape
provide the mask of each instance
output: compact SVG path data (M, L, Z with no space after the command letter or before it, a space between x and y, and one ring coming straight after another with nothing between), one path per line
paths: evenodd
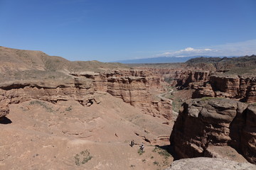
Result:
M255 0L0 0L0 45L68 60L256 54Z

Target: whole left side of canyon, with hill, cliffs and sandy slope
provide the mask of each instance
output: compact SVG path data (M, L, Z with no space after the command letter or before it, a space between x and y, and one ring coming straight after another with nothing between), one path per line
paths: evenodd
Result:
M158 97L168 85L158 73L6 47L0 53L0 169L171 164L156 147L168 146L173 125L171 100Z

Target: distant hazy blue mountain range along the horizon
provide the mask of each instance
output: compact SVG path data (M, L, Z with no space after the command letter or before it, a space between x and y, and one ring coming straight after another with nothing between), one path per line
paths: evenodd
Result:
M134 59L134 60L119 60L115 62L121 62L123 64L141 64L141 63L168 63L168 62L186 62L197 57L210 57L210 56L191 56L191 57L153 57L144 59Z

